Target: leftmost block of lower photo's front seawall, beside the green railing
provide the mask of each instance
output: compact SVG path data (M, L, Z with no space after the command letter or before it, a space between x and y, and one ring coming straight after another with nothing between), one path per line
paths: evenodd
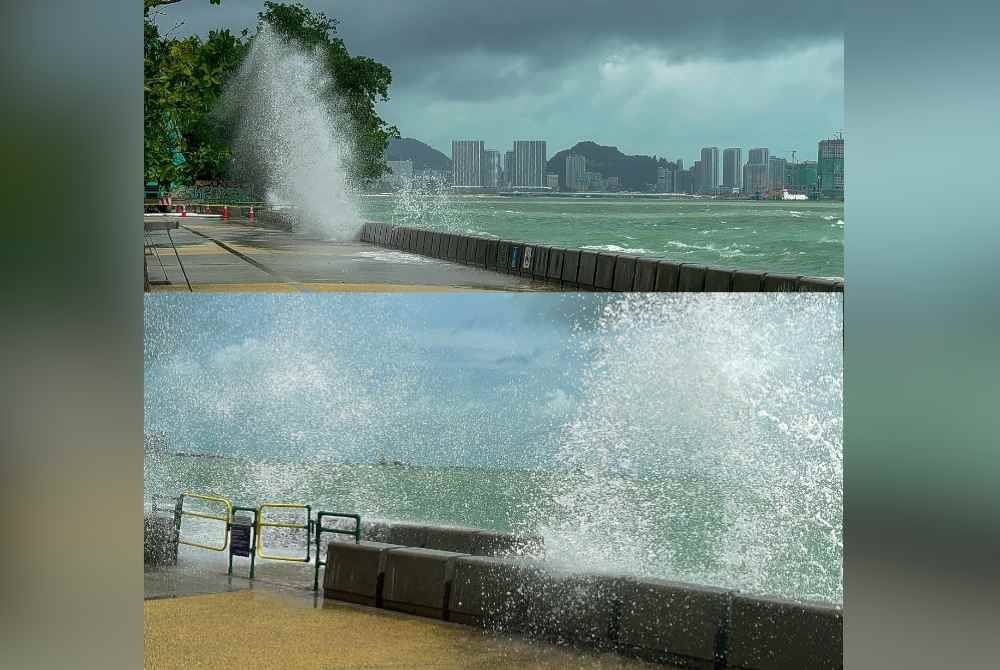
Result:
M383 542L331 542L326 548L323 595L336 600L381 607L385 554L401 549Z

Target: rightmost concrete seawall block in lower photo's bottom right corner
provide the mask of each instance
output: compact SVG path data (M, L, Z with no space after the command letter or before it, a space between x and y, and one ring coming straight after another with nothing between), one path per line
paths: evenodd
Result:
M843 612L748 595L733 597L729 667L820 670L844 666Z

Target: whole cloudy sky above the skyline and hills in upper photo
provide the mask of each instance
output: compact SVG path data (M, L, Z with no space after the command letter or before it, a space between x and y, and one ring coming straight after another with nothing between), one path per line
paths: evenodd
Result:
M509 148L581 140L683 158L766 146L815 158L844 125L840 3L630 0L308 0L353 54L393 72L380 113L450 154L452 139ZM184 0L175 34L253 28L263 0Z

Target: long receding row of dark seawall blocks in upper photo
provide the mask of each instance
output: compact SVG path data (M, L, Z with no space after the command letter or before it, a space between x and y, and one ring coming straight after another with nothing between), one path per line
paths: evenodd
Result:
M587 291L843 292L818 277L678 263L446 231L365 223L361 241Z

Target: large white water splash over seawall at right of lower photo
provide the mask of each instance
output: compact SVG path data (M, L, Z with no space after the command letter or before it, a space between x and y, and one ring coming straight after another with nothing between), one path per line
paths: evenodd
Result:
M611 303L538 509L548 556L841 600L838 305L818 295Z

